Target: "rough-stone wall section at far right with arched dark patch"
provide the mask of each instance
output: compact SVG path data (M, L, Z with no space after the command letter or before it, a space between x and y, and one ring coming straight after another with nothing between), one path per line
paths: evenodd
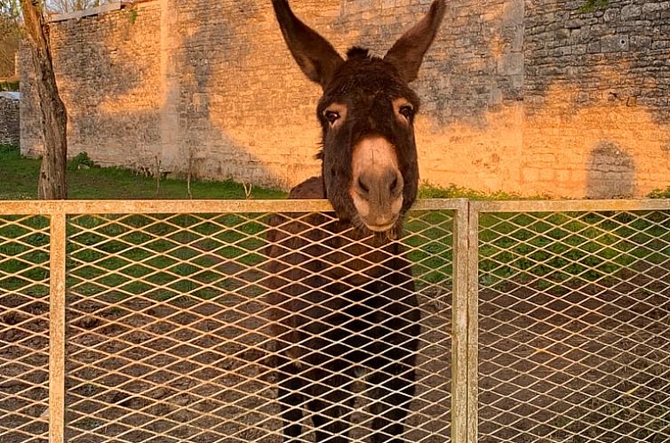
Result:
M529 0L530 1L530 0ZM569 196L670 184L670 2L527 8L522 185Z

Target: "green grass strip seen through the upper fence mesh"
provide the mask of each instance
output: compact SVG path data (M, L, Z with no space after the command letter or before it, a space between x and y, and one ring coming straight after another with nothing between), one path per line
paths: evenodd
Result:
M115 287L161 300L183 293L210 298L242 286L232 277L235 272L264 262L266 222L266 214L250 213L73 216L69 286L83 294ZM408 217L403 243L419 286L451 283L451 222L449 211ZM564 290L572 282L603 281L622 270L670 260L670 218L661 211L489 213L480 223L484 286L513 280L540 290ZM0 286L16 290L46 278L48 255L31 251L31 246L48 244L46 226L43 217L0 218L0 238L6 239L0 254L12 257L0 262L0 274L20 271L0 278ZM39 270L31 269L35 265Z

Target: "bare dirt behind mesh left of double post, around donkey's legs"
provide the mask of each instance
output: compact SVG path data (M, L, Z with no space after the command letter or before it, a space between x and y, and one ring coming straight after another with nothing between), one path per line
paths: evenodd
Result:
M267 306L260 300L227 294L156 303L115 293L70 294L68 441L281 442L275 375L266 365L272 352L262 315ZM435 290L422 296L417 395L406 422L411 441L449 439L449 300ZM48 306L25 302L2 300L11 309L0 320L3 443L47 441ZM28 326L31 316L42 320ZM356 406L361 412L352 437L363 439L370 417L364 401Z

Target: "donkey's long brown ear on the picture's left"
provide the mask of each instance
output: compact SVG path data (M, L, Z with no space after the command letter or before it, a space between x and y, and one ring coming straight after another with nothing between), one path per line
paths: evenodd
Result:
M272 0L272 5L283 39L302 72L322 87L328 85L335 70L344 63L342 57L323 36L295 16L288 0Z

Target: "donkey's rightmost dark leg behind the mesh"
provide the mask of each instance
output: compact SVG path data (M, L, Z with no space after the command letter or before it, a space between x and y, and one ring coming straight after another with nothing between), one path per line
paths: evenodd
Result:
M403 421L414 397L414 369L396 363L375 371L370 382L375 386L371 443L403 443Z

